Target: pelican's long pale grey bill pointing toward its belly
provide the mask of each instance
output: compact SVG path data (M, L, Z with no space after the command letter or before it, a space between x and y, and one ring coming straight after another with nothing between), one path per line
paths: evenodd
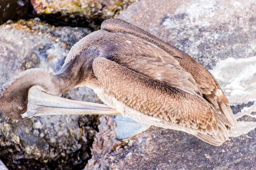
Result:
M33 87L29 90L27 111L21 116L23 119L34 116L67 115L67 114L120 114L118 111L92 102L81 102L64 99L47 94Z

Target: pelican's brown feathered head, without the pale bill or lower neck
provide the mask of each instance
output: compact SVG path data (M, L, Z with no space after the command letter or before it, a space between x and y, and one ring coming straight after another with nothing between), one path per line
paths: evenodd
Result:
M38 79L37 76L42 79ZM29 89L38 85L47 92L52 91L47 89L51 79L47 71L37 68L26 70L13 77L0 90L0 110L11 119L23 119L21 115L27 111ZM56 94L55 91L53 94Z

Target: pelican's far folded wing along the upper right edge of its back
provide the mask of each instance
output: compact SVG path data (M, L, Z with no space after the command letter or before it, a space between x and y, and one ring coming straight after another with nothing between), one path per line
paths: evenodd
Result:
M158 57L159 61L161 62L172 63L173 58L175 57L183 70L192 75L194 80L191 78L188 80L190 82L196 82L199 90L197 93L202 94L208 102L221 111L223 115L219 116L219 118L224 121L226 125L229 127L235 126L236 119L230 108L230 103L218 85L218 82L215 80L212 74L209 73L209 71L199 64L195 59L168 42L165 42L147 31L144 31L143 29L120 19L105 20L102 23L101 28L111 32L128 33L157 45L159 48L170 54L170 56ZM194 83L192 82L192 84Z

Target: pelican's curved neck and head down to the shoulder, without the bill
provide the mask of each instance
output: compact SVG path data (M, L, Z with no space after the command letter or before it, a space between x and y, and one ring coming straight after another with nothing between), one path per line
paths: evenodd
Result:
M96 54L85 50L67 62L53 76L39 68L23 71L5 83L0 90L0 111L12 119L23 119L21 114L27 110L29 89L33 86L56 95L86 83L93 73L91 67Z

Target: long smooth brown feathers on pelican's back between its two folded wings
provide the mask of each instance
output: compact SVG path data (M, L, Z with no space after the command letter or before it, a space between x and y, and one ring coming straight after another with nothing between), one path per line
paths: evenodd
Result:
M164 82L171 87L180 88L181 90L184 89L193 94L196 94L198 91L191 74L170 63L167 64L151 57L135 55L112 55L110 59L125 68L129 68L151 79Z

